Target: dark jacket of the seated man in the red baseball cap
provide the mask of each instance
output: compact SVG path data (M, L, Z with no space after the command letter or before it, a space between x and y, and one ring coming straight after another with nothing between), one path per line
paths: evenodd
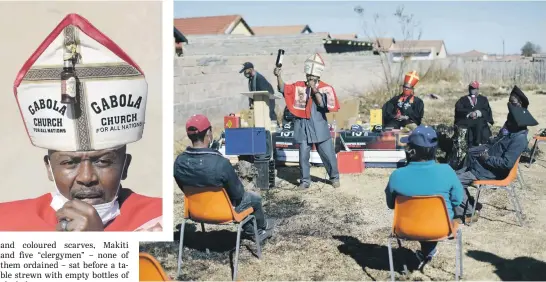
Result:
M174 161L174 179L178 187L223 187L233 206L239 205L245 189L228 159L216 150L191 148Z

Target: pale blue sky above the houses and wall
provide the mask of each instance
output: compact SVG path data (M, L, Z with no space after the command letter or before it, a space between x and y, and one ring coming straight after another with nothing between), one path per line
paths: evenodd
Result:
M476 49L502 54L503 39L506 54L520 53L526 41L546 51L546 2L184 1L174 3L174 17L238 14L251 27L308 24L314 32L362 36L367 23L379 36L403 38L393 16L400 5L419 21L421 39L443 39L448 53ZM364 17L357 15L355 6L364 9ZM380 24L373 24L374 14L381 16Z

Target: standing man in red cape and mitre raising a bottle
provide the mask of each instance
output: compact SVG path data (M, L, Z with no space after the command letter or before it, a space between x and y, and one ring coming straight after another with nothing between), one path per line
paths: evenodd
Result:
M319 54L309 57L305 61L305 81L296 81L292 84L284 83L281 69L275 68L278 90L284 96L286 107L294 118L294 139L300 145L300 188L306 189L311 185L311 148L317 148L320 159L328 172L334 188L340 186L334 144L331 140L330 129L326 113L337 112L339 102L334 88L320 80L324 71L324 60Z

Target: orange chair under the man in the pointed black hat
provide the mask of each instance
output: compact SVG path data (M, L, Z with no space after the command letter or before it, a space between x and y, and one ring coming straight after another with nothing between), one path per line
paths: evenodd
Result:
M510 198L510 201L514 205L514 208L516 210L516 216L518 218L519 224L523 226L523 209L521 208L521 205L519 203L518 196L516 194L516 189L514 185L514 180L518 179L518 170L519 170L519 158L516 160L516 163L514 164L514 167L510 170L508 173L508 176L506 176L505 179L502 180L476 180L472 182L472 186L476 187L478 189L478 192L476 193L476 200L474 201L474 209L472 212L472 217L474 217L474 214L476 213L476 206L478 205L478 200L480 199L480 193L484 189L503 189L508 192L508 198ZM521 181L521 180L520 180ZM521 183L521 182L520 182ZM522 184L523 185L523 184ZM472 222L468 223L470 226Z

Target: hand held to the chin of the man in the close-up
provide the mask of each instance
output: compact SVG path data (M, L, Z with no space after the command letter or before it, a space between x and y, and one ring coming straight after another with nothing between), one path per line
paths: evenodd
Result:
M57 231L104 231L102 219L95 208L76 199L66 202L57 211L57 220ZM68 221L66 230L63 230L62 220Z

